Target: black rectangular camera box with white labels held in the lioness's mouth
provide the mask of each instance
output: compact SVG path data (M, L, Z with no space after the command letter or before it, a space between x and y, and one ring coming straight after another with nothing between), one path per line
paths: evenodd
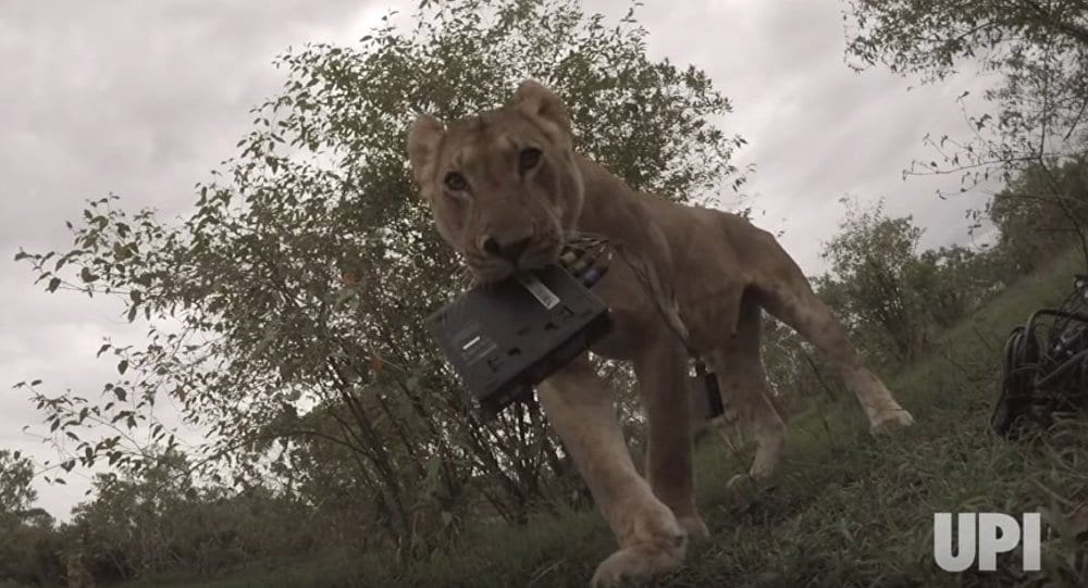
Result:
M475 286L428 317L484 418L527 398L608 333L608 308L590 291L611 257L597 245L568 246L558 264Z

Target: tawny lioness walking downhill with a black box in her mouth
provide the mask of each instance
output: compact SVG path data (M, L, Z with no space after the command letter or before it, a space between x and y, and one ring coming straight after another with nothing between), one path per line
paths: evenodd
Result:
M629 253L593 287L613 327L590 352L633 364L648 424L644 476L589 353L537 387L618 542L593 586L668 573L682 564L689 538L709 536L694 495L691 353L706 359L755 430L747 476L774 472L786 426L759 360L762 312L832 362L874 431L914 422L771 234L739 215L635 191L576 153L567 110L541 84L526 80L506 105L448 124L420 114L407 151L435 228L479 283L555 263L576 234L602 236Z

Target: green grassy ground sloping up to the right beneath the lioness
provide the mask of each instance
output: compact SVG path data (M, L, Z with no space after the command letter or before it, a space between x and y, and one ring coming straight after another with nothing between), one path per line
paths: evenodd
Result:
M988 420L1009 330L1070 290L1071 257L1013 285L947 333L937 352L889 385L918 421L873 438L853 399L791 421L788 454L774 486L733 496L725 481L747 455L715 438L698 453L700 500L714 535L660 586L1088 586L1088 423L1046 439L994 438ZM1042 511L1043 572L1022 575L1000 560L993 574L952 575L934 563L932 513ZM1079 526L1078 526L1079 525ZM1073 538L1081 533L1079 545ZM1046 533L1046 530L1044 530ZM568 513L526 528L484 527L448 553L410 568L388 554L330 554L292 565L255 564L202 586L585 586L614 540L595 513ZM147 585L183 578L156 578ZM132 586L138 586L134 584Z

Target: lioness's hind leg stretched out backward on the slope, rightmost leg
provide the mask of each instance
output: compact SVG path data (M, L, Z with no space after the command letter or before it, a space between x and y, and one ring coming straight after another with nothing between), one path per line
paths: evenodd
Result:
M846 388L862 404L874 433L914 424L911 413L899 405L883 381L865 366L842 324L813 291L801 268L787 260L788 266L779 276L756 285L761 305L832 362Z

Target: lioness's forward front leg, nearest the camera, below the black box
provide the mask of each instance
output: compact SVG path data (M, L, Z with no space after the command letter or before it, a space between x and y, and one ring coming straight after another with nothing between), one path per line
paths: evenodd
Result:
M545 380L540 400L619 542L597 566L593 585L645 580L678 567L687 536L635 471L610 390L588 356Z

